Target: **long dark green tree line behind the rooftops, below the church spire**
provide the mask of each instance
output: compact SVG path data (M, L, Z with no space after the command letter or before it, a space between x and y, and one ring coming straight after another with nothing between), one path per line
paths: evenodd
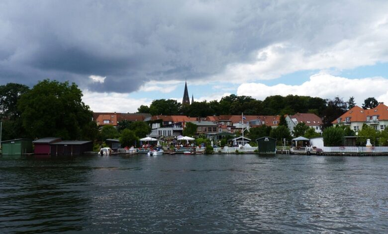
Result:
M364 101L364 109L374 108L379 104L375 98ZM191 105L182 105L172 99L154 100L150 106L141 105L138 113L156 115L185 115L190 117L206 117L219 115L294 115L295 113L313 113L323 119L323 128L331 126L331 122L356 105L354 97L344 101L340 97L322 99L309 96L269 96L263 101L249 96L236 96L234 94L221 98L218 102L202 101Z

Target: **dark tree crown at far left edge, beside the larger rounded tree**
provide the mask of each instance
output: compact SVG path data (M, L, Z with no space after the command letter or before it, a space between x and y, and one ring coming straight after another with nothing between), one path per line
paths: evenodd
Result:
M16 119L20 117L17 102L27 93L29 88L25 85L8 83L0 85L0 119Z

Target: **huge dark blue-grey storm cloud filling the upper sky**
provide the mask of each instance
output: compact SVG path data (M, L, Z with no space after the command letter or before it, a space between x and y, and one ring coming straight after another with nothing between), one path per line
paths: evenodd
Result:
M46 78L98 92L204 79L287 41L313 53L376 7L301 1L1 1L0 83ZM333 33L334 32L334 33ZM105 77L103 84L88 77Z

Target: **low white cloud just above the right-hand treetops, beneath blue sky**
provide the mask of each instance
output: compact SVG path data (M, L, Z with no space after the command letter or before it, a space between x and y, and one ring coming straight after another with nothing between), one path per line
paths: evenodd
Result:
M333 99L335 96L347 101L354 97L358 106L368 97L375 97L379 102L388 103L388 79L382 77L348 79L327 73L312 75L309 81L301 85L278 84L267 86L261 83L244 83L237 89L237 95L247 95L264 100L272 95L300 95Z

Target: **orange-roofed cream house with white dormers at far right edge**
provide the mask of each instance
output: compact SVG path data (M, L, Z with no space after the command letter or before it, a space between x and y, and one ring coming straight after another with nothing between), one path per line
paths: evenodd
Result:
M349 126L354 131L361 130L364 123L376 130L384 130L388 125L388 107L384 103L367 110L355 106L332 122L334 125Z

